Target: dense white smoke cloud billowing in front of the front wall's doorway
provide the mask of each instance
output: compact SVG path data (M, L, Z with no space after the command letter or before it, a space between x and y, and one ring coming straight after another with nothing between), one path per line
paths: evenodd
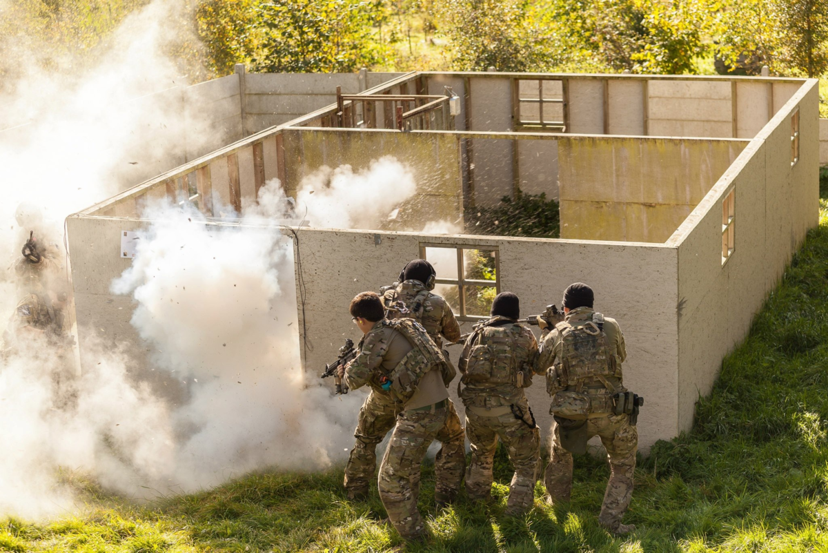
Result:
M153 362L186 382L171 421L184 432L176 484L190 490L272 465L320 469L341 457L358 400L331 399L301 369L291 240L273 227L205 225L171 206L147 216L157 222L113 291L132 293L132 325Z

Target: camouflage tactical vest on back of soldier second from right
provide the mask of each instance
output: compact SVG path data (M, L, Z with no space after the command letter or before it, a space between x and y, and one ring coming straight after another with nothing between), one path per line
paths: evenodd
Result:
M487 384L513 384L517 382L514 350L516 346L514 324L475 329L469 336L470 348L464 348L460 358L462 382Z

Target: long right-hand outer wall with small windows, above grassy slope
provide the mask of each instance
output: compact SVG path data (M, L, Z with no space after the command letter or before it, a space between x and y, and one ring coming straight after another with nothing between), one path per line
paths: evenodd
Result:
M797 93L724 173L668 245L678 246L679 426L690 429L722 358L819 218L816 80ZM791 112L799 106L800 158L791 166ZM722 265L722 200L734 190L735 248Z

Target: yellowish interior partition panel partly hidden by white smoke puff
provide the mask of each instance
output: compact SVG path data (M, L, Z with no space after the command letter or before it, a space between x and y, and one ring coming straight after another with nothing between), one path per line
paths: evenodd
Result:
M320 166L347 164L359 171L382 156L392 155L412 171L417 190L411 200L401 204L397 218L383 228L422 228L432 220L459 221L462 225L460 149L450 134L296 128L284 129L282 135L289 195L295 194L302 178Z

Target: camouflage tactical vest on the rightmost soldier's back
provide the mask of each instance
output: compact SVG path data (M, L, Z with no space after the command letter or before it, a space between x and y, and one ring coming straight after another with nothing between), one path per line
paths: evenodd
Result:
M578 325L563 321L555 328L561 333L561 355L546 374L551 413L580 419L611 412L612 394L623 391L623 386L604 333L604 315L595 313L593 320Z

